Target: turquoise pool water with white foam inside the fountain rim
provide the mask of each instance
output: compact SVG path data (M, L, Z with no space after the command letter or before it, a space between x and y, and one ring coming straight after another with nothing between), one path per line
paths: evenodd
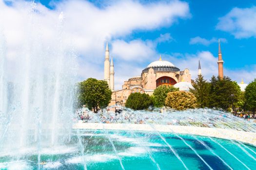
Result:
M0 169L121 170L121 164L125 170L256 169L254 146L206 136L160 135L153 132L75 131L71 142L65 146L31 146L0 155ZM38 153L43 165L38 164Z

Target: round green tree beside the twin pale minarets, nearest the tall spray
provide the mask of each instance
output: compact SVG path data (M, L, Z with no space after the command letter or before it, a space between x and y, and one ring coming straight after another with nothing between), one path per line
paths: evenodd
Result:
M86 105L96 113L98 108L105 108L111 100L111 90L104 80L89 78L79 82L79 106Z

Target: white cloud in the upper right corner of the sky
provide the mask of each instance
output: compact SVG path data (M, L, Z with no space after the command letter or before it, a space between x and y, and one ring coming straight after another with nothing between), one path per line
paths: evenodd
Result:
M229 32L236 38L256 37L256 6L233 8L224 17L219 18L216 28Z

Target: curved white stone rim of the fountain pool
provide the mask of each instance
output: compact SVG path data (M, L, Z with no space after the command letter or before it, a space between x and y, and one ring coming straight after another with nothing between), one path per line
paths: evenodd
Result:
M76 123L73 129L87 130L126 130L126 131L158 131L166 133L211 136L222 139L232 139L256 146L256 133L237 131L233 129L178 126L160 124L121 124L121 123Z

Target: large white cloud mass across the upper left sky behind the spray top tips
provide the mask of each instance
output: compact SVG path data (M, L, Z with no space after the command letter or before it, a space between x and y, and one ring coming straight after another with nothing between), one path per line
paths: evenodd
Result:
M124 37L135 30L168 27L178 18L190 17L188 3L178 0L148 4L141 4L137 0L111 1L104 8L85 0L64 0L56 2L54 10L38 3L35 12L32 11L31 2L13 0L12 5L7 6L0 0L0 29L6 39L10 65L15 66L15 62L19 61L17 58L22 59L21 51L24 51L25 44L36 41L40 49L54 49L58 45L57 40L61 39L65 51L77 51L81 79L103 77L106 41L110 42L110 46L113 42L110 52L119 57L117 61L120 64L124 60L126 65L132 66L138 56L142 60L155 55L156 44L170 41L171 36L160 35L156 42L139 39L125 42L122 40ZM63 25L59 24L58 19L61 11L64 14ZM60 37L61 31L64 34ZM127 51L125 47L132 51ZM127 69L119 77L129 72Z

